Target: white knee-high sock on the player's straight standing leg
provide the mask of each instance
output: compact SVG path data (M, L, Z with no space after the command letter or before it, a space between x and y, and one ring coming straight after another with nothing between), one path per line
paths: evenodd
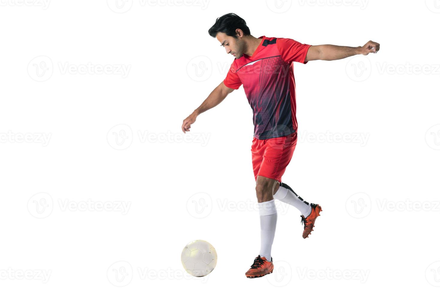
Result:
M260 257L266 257L271 261L272 243L275 238L277 220L275 199L268 202L257 203L260 212L261 248Z

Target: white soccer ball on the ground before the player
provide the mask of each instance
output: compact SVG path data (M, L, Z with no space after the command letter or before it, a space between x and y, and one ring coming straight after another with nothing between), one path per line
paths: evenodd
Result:
M194 240L183 248L181 259L188 274L203 277L216 267L217 252L209 242Z

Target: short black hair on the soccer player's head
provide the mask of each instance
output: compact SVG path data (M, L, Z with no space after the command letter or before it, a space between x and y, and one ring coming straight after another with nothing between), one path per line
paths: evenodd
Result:
M216 23L208 30L209 36L216 37L217 33L226 33L227 36L237 38L236 29L241 29L245 36L250 35L250 30L243 18L235 13L228 13L216 19Z

